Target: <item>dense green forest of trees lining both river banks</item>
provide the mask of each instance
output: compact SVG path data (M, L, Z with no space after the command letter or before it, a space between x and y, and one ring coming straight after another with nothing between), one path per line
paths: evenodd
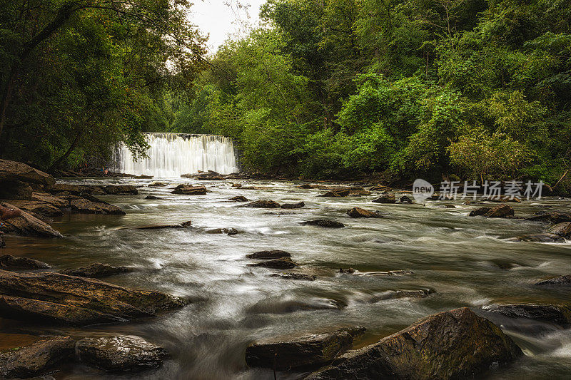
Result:
M569 1L268 0L211 54L184 0L0 4L3 158L211 133L250 173L571 189Z

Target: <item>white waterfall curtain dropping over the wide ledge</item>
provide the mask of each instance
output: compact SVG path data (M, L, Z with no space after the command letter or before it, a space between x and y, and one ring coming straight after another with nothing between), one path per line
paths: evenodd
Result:
M236 173L236 155L231 138L221 135L187 135L183 133L146 133L151 148L148 158L133 162L125 145L118 148L118 173L180 177L198 170L214 170L221 174Z

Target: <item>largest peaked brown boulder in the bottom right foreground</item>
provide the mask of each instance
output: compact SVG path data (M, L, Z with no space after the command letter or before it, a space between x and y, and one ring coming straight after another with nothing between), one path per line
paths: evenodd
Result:
M306 379L468 379L521 355L499 327L464 307L350 351Z

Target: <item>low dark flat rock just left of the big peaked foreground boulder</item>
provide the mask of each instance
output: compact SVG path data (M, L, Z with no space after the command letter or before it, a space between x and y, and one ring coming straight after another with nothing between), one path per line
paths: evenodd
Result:
M363 332L365 328L357 326L287 341L266 339L246 348L246 364L276 371L318 368L349 349Z

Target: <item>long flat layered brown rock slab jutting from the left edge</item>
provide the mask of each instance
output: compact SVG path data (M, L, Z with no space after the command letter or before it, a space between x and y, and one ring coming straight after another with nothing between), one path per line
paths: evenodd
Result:
M86 325L125 322L183 307L179 297L54 272L0 270L0 317Z

